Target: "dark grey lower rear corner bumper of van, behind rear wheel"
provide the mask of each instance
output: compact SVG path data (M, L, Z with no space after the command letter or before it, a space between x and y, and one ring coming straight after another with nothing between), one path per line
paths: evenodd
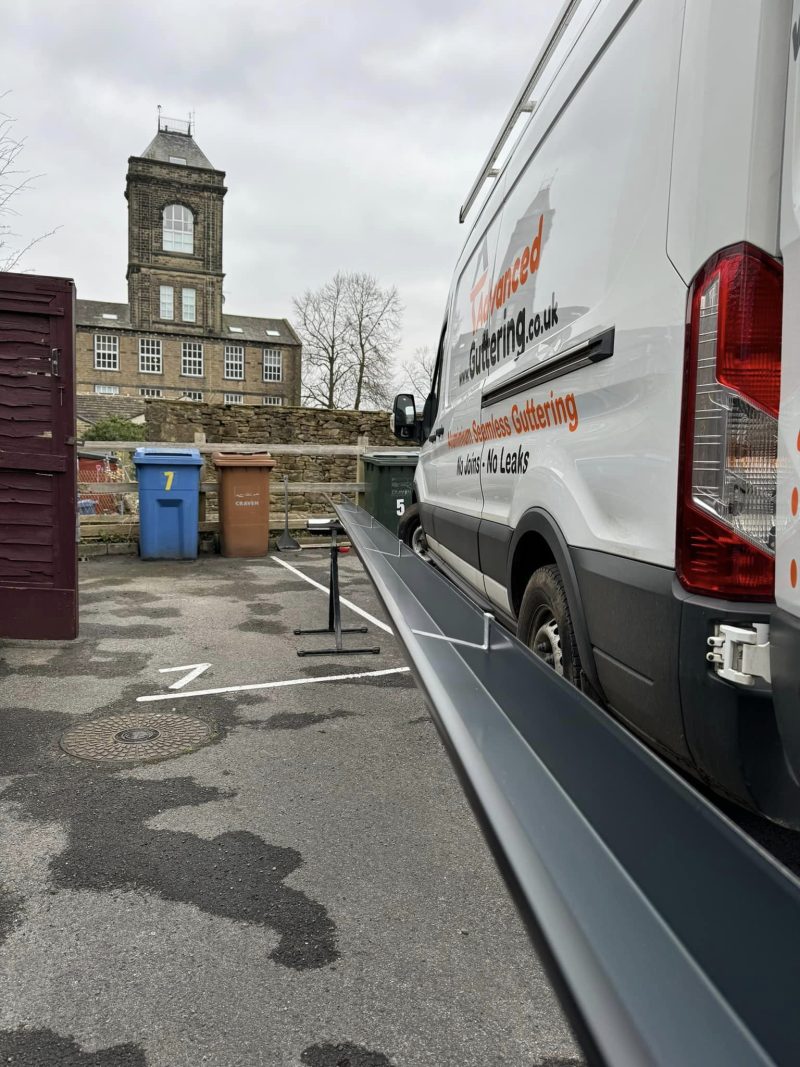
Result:
M800 785L790 770L795 742L800 767L798 620L796 628L782 623L785 640L780 626L775 635L794 649L794 660L787 651L787 668L779 673L790 679L794 670L796 681L779 683L773 705L767 685L725 682L705 656L716 624L774 627L774 605L692 595L671 568L590 550L571 555L610 708L714 789L800 827ZM781 707L794 732L779 724Z

